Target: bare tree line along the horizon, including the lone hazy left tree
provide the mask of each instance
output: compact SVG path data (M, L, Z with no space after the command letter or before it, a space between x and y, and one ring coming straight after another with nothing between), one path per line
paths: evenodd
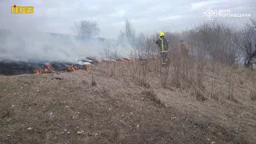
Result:
M88 20L74 22L74 28L82 38L93 38L100 31L97 22ZM244 66L249 68L256 58L256 20L253 18L242 29L223 22L203 22L180 33L164 32L170 41L170 53L178 51L179 41L185 40L190 45L190 55L203 60L230 65L243 61ZM156 38L158 33L137 34L133 24L126 20L118 35L118 42L104 42L106 58L109 58L110 50L114 50L116 56L118 47L128 50L131 57L151 57L158 54L154 44Z

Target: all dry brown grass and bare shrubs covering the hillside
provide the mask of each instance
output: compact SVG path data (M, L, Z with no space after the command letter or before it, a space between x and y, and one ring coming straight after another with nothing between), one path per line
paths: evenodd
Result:
M191 47L182 60L181 34L166 33L170 65L162 67L155 35L136 41L129 22L124 31L130 56L150 60L1 76L0 142L256 142L256 75L238 65L248 39L231 26L205 23L182 33ZM109 58L114 45L105 44Z

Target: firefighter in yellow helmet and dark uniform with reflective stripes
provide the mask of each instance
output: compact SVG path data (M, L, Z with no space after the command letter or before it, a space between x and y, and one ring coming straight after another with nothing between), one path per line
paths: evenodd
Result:
M155 40L155 43L160 48L162 66L166 66L166 62L168 61L169 41L165 38L164 32L159 33L159 38Z

